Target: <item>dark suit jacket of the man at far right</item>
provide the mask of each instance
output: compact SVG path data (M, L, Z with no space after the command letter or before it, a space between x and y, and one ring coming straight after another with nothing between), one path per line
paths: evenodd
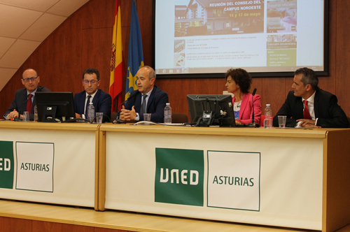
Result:
M315 117L318 118L317 126L329 128L345 128L349 126L349 121L337 102L337 96L322 89L316 90L314 110ZM295 126L297 124L296 120L304 117L303 107L302 97L294 96L294 92L290 91L283 106L274 116L274 126L279 126L278 115L287 116L286 126Z

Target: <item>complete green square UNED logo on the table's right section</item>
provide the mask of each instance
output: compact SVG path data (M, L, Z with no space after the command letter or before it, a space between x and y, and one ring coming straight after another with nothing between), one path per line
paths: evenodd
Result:
M203 206L203 150L155 148L155 159L155 202Z

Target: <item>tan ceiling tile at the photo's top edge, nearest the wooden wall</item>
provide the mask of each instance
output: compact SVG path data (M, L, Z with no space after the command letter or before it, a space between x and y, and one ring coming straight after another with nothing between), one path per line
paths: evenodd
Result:
M0 0L1 1L1 0ZM52 6L47 12L68 17L89 0L61 0Z

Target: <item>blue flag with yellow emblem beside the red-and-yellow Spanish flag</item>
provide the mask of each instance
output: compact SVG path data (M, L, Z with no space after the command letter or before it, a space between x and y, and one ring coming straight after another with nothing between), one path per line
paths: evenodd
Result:
M144 66L144 52L142 50L142 39L139 24L139 16L134 0L132 0L132 16L130 22L129 57L127 59L127 82L125 87L125 100L130 93L137 89L136 73Z

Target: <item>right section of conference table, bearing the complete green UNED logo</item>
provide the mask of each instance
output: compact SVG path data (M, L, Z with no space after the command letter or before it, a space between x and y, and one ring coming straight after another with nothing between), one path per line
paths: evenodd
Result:
M99 210L319 231L350 223L349 129L99 131Z

